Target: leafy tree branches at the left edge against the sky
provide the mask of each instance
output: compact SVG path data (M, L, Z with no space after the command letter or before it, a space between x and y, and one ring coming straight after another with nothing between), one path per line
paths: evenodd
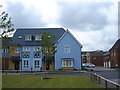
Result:
M0 6L0 9L2 6ZM0 10L1 11L1 10ZM11 40L9 36L13 34L14 28L11 22L11 18L8 16L8 13L3 11L0 13L0 39L2 40L3 46L7 45Z

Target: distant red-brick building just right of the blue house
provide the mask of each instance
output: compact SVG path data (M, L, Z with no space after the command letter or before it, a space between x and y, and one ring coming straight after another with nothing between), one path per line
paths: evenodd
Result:
M103 55L104 52L102 50L82 52L83 63L92 63L95 66L103 66Z

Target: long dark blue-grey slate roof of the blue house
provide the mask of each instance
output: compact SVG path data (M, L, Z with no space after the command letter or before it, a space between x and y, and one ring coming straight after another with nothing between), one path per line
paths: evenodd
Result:
M40 35L43 32L48 32L55 36L55 43L62 37L65 33L63 28L20 28L17 29L13 38L12 45L40 45L38 41L25 41L25 35ZM22 36L20 39L19 36Z

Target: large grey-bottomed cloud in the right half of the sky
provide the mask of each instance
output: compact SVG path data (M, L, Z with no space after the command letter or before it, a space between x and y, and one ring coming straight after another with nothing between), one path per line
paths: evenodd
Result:
M102 30L107 24L107 14L103 12L112 3L60 3L59 22L63 27L78 30Z

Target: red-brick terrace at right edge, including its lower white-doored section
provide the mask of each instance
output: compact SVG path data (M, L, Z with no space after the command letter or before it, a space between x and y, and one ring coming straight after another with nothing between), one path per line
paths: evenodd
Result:
M104 54L104 67L120 66L120 39Z

